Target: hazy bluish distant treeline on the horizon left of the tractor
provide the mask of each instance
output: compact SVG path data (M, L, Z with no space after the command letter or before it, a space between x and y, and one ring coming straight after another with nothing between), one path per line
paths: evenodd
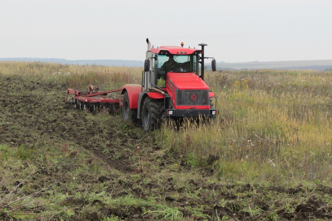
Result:
M60 58L0 58L0 61L27 61L27 62L53 62L68 65L103 65L103 66L126 66L143 67L143 61L132 60L66 60Z

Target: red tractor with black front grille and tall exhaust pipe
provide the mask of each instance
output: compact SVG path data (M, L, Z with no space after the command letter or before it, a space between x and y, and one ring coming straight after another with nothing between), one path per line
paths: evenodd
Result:
M123 120L137 122L148 132L158 129L164 118L215 118L216 97L204 82L207 44L199 44L201 49L184 48L183 43L155 48L149 39L146 42L142 83L125 84L121 91ZM214 59L211 66L215 71Z

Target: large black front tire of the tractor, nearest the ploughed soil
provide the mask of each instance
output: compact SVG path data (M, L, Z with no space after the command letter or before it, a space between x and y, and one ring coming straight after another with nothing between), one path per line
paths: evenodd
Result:
M160 128L166 116L164 100L145 98L142 109L142 128L149 132Z

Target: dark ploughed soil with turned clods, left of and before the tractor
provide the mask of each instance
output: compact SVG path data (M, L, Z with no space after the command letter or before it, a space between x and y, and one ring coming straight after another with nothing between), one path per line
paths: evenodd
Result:
M80 148L89 154L85 163L100 165L106 174L81 176L82 182L105 184L112 198L126 195L181 212L180 220L331 220L332 209L327 198L332 189L322 185L286 187L272 184L243 184L214 179L213 168L190 168L176 154L168 154L153 133L143 133L134 124L124 124L121 115L93 115L77 111L64 103L66 85L3 78L0 82L0 143L12 148L24 146L38 152L39 146L61 149L72 163L60 168L40 164L35 179L60 180L57 186L69 196L60 202L72 206L75 216L70 220L103 220L117 216L121 220L156 220L162 214L156 205L143 203L106 205L102 199L93 204L95 211L83 214L88 200L70 196L68 177L75 169L75 155ZM102 119L105 116L105 119ZM46 148L47 149L47 148ZM31 160L31 159L30 159ZM8 170L11 170L8 167ZM22 177L2 183L2 194L20 183ZM30 179L33 183L34 179ZM23 185L28 185L26 182ZM36 184L35 191L42 188ZM95 191L93 189L75 191ZM42 194L42 193L41 193ZM160 207L158 207L160 210ZM39 212L47 210L41 208ZM80 211L82 210L82 211ZM60 220L60 216L52 219ZM1 219L9 220L5 214ZM42 220L41 218L39 218ZM166 219L164 217L164 219ZM175 220L176 220L175 219ZM172 220L172 218L169 218Z

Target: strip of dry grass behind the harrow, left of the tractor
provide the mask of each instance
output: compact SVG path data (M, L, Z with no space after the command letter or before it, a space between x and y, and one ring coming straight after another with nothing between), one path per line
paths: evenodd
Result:
M140 83L141 71L142 68L135 67L0 62L0 74L3 76L28 77L74 89L86 89L90 83L95 83L103 90L122 87L126 83Z

